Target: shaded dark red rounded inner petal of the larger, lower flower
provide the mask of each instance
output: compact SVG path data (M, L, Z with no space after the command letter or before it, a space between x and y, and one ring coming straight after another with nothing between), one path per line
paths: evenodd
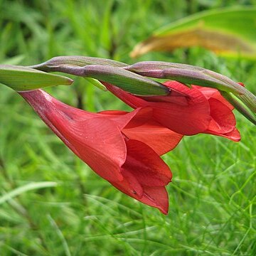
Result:
M130 139L127 160L122 169L133 174L142 186L165 186L171 181L171 170L156 152L146 144Z

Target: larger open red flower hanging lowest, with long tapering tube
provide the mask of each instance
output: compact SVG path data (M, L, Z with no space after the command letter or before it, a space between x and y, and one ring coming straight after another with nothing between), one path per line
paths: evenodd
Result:
M152 120L150 107L91 113L43 90L20 92L43 121L98 175L132 198L168 212L171 170L159 155L182 135Z

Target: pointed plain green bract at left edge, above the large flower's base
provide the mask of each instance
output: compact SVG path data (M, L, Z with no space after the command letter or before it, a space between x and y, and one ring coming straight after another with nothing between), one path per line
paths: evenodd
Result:
M36 90L54 85L70 85L70 78L16 65L0 65L0 83L16 91Z

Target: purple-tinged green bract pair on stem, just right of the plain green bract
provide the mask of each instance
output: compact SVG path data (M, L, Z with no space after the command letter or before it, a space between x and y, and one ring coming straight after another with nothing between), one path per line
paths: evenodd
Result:
M65 56L53 58L33 65L31 68L43 70L46 72L62 72L70 75L82 76L85 78L94 78L104 82L110 82L112 85L120 87L122 90L134 95L169 95L170 91L160 82L156 82L142 75L124 70L127 66L114 60L101 58Z

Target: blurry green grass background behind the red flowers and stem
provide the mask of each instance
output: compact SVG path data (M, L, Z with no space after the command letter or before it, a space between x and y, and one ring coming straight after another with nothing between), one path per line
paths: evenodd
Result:
M0 0L0 63L33 65L56 55L166 60L223 73L256 94L255 61L202 48L129 58L156 28L235 4L256 1ZM129 110L82 78L48 92L85 110ZM199 134L164 156L174 174L165 216L94 174L1 85L0 255L256 255L256 132L235 114L240 143Z

